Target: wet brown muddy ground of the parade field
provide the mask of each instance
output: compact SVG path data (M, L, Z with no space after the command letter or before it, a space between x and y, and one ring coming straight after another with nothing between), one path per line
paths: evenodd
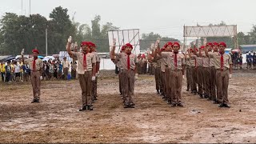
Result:
M234 70L231 108L219 108L182 86L184 107L155 93L154 77L135 82L135 108L124 109L114 71L102 71L93 111L79 112L78 80L42 82L30 103L30 82L0 82L0 142L256 142L256 70Z

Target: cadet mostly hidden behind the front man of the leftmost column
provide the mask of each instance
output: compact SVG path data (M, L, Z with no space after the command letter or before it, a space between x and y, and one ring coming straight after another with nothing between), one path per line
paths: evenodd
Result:
M90 46L90 53L95 55L96 58L96 78L95 81L92 82L92 91L91 91L91 98L92 102L97 100L97 83L98 83L98 74L99 74L99 64L100 64L100 59L98 57L98 53L96 52L96 45L93 42L89 42Z

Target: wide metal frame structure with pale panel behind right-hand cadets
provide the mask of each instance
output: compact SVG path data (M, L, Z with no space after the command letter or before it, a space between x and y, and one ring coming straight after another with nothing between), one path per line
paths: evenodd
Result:
M237 25L226 26L183 26L184 49L187 37L234 37L234 48L238 49Z

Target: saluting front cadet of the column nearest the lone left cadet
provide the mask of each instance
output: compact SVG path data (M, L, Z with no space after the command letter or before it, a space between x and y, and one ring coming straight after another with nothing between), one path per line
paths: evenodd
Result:
M82 52L74 52L70 50L72 38L68 38L67 52L78 58L78 78L82 90L82 108L83 110L93 110L91 101L92 81L95 81L96 74L96 57L90 52L90 43L82 42Z

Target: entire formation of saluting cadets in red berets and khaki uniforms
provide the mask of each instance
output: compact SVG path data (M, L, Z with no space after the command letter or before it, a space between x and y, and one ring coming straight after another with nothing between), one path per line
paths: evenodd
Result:
M79 84L82 90L83 110L93 110L93 102L97 100L97 78L99 75L100 58L93 42L71 43L68 38L66 50L74 61L78 62L77 72ZM232 58L225 54L225 42L208 42L200 48L188 48L183 53L178 42L166 42L160 48L160 39L151 45L151 54L132 53L134 47L130 43L122 46L116 53L114 39L110 58L118 67L119 92L123 99L124 108L134 108L134 83L138 74L146 74L147 66L150 74L154 74L156 92L170 106L184 106L182 101L182 81L186 74L186 91L199 98L207 98L219 107L230 107L228 100L229 79L232 77ZM38 58L39 51L32 50L33 58L24 60L22 50L22 62L29 65L31 84L34 99L40 101L40 81L42 78L43 62ZM74 62L73 61L73 62ZM148 64L148 65L147 65ZM64 70L68 74L68 69Z

